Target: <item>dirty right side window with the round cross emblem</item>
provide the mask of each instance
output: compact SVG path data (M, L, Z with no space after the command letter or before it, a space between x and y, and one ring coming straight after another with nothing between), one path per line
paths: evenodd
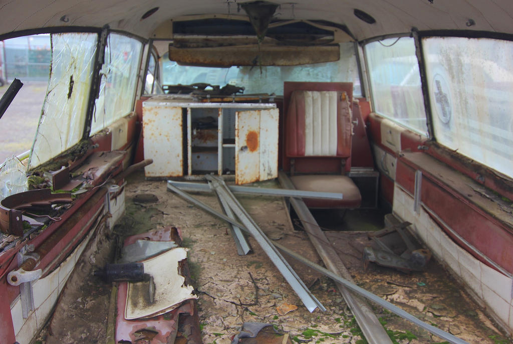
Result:
M513 42L422 41L435 138L513 177Z

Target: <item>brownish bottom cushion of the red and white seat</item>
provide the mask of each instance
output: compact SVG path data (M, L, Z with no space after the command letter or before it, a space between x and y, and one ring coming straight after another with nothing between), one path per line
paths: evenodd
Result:
M360 190L351 178L341 175L305 175L290 177L298 190L341 193L341 200L303 198L309 208L358 208L362 203Z

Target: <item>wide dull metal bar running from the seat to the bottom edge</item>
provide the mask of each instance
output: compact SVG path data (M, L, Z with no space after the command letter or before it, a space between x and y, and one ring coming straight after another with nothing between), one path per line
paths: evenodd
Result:
M284 188L294 188L292 181L283 171L279 173L278 180ZM317 221L313 218L305 202L301 199L291 198L290 204L301 220L305 232L308 234L310 241L328 270L353 282L351 274L347 271L342 259L340 259L340 256L333 249L333 246L326 244L330 241L326 238L326 235L317 224ZM342 294L351 312L354 314L354 318L358 322L365 339L371 344L392 344L390 337L367 302L351 294L343 284L336 284L340 294Z

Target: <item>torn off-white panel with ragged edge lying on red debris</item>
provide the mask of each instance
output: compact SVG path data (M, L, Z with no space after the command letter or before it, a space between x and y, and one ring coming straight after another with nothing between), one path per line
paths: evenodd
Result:
M144 273L153 277L153 302L149 298L149 282L129 282L125 319L154 317L172 311L182 301L197 299L191 285L184 285L179 273L180 261L187 258L187 249L176 247L161 255L143 261Z

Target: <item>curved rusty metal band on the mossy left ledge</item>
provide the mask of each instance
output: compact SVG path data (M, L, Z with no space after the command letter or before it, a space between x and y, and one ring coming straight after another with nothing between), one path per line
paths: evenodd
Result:
M0 201L0 230L6 234L23 235L23 212L33 206L71 203L71 194L52 194L50 189L29 190Z

